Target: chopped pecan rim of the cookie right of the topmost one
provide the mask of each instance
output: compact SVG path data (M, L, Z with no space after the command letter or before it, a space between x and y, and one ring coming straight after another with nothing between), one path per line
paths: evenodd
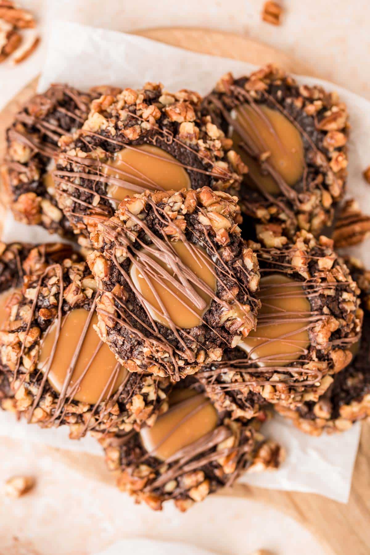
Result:
M272 239L277 246L272 246ZM272 362L267 359L261 367L237 347L199 372L207 395L238 418L250 417L251 411L256 414L262 399L289 408L317 401L332 384L333 376L351 361L351 346L361 334L359 289L343 260L334 253L333 241L324 236L316 240L306 231L298 232L292 243L284 239L271 235L267 248L258 244L251 247L259 259L262 278L283 273L302 286L311 306L311 314L303 322L309 344L287 365L274 366L272 357Z

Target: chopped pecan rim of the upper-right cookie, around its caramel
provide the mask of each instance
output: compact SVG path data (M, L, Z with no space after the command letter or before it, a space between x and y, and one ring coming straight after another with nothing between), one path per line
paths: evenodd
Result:
M349 129L346 105L336 93L318 86L300 86L269 64L239 79L231 73L221 77L204 100L204 113L210 114L227 135L232 110L244 103L277 110L295 125L302 137L305 168L293 186L276 181L280 189L277 196L261 184L257 183L258 190L242 184L242 211L262 225L281 225L284 235L292 237L297 229L305 229L317 236L331 224L334 204L344 193ZM267 170L266 164L263 167Z

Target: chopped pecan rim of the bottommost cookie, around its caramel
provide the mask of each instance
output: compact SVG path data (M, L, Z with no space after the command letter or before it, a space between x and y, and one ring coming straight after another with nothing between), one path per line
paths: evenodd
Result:
M244 472L280 465L282 448L266 442L258 430L255 420L233 421L222 411L216 415L213 430L180 447L165 460L158 458L156 451L148 452L137 433L108 434L99 441L108 469L118 471L117 486L121 491L128 492L135 502L145 502L154 511L160 511L164 502L172 500L184 512L194 502L231 486ZM169 435L175 433L176 428L169 431Z

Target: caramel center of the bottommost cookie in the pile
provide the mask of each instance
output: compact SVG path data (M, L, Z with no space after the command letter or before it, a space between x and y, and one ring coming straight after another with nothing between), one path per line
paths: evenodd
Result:
M169 411L159 416L153 427L140 431L146 451L161 461L214 430L218 420L214 406L202 393L175 390L169 401Z

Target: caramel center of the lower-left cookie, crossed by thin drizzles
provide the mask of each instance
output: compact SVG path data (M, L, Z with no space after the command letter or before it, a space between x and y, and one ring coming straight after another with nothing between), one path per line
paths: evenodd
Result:
M67 373L77 354L78 343L83 334L89 312L75 309L63 317L59 337L57 322L49 327L45 334L39 357L39 368L48 369L48 362L57 341L57 347L48 372L48 380L55 391L60 393L65 385ZM98 323L97 314L93 314L85 332L82 347L75 362L72 377L69 380L66 395L75 401L94 404L115 393L124 382L127 371L118 365L109 347L100 341L93 325ZM114 386L112 385L114 381Z

